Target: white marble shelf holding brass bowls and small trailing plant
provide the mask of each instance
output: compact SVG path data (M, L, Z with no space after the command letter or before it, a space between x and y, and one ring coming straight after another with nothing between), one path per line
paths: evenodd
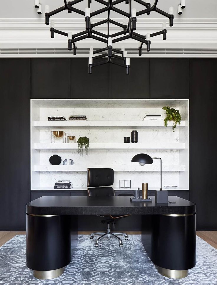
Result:
M34 149L78 149L78 144L75 143L36 143ZM90 149L185 149L184 143L153 143L153 144L124 144L124 143L92 143Z

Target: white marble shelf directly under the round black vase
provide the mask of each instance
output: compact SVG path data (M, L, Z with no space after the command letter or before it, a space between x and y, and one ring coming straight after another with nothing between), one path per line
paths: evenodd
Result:
M112 168L114 171L160 171L156 165L34 165L34 171L87 171L88 167ZM185 171L185 165L162 165L162 171Z

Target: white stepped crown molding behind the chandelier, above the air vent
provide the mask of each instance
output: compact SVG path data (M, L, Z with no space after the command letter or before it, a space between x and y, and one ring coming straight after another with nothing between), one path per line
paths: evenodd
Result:
M94 22L102 20L95 19ZM114 19L123 21L123 18ZM137 19L137 31L141 34L156 32L161 29L165 19ZM55 27L59 30L73 33L80 32L85 28L83 18L55 19ZM106 25L98 27L101 32L106 32ZM113 27L115 33L118 28ZM167 28L167 40L162 36L154 37L151 48L216 48L217 44L217 19L174 19L174 26ZM78 48L101 48L103 43L96 40L86 39L76 43ZM116 48L123 43L117 43ZM135 40L124 42L126 48L135 48L138 43ZM36 18L1 18L0 19L0 48L67 48L67 38L56 35L50 38L50 27L45 25L44 19Z

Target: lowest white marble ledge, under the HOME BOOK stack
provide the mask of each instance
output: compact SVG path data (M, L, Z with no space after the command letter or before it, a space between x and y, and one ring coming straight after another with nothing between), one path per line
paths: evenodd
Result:
M130 190L136 190L138 189L138 187L131 187L131 188L119 188L119 186L111 186L115 191L116 190L121 190L121 191L130 191ZM90 188L90 187L89 187ZM155 190L158 189L159 186L156 187L149 187L148 190ZM164 187L163 187L164 188ZM87 187L73 187L71 189L54 189L54 187L38 187L38 188L33 188L31 191L85 191L87 189ZM140 190L142 190L142 188L140 188ZM167 189L168 191L175 191L175 190L189 190L189 189L184 189L181 187L177 187L174 189Z

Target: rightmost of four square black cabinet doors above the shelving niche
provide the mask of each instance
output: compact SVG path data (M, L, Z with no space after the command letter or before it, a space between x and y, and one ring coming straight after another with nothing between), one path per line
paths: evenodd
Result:
M150 98L189 98L189 59L150 59Z

